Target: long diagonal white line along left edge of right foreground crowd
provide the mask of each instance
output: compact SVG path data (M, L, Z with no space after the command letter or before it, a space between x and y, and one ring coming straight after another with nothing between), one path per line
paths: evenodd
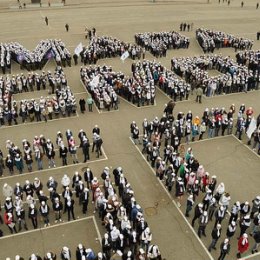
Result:
M134 141L132 140L131 137L129 137L130 141L134 144ZM135 144L134 144L135 145ZM153 167L149 164L149 162L147 162L145 156L142 154L142 152L138 149L138 147L135 148L137 149L137 151L139 152L139 154L143 157L144 161L146 162L146 164L149 166L149 168L151 169L151 171L153 172L154 176L156 176L156 173L153 169ZM156 177L157 178L157 177ZM172 199L171 194L169 193L169 191L166 189L166 187L164 186L164 184L157 178L158 182L160 183L160 185L162 186L162 188L164 189L164 191L166 192L166 194L168 195L169 199L171 200L171 202L173 203L173 205L175 206L175 208L179 211L180 215L182 216L182 218L185 220L186 224L188 225L188 227L190 228L190 230L192 231L192 233L194 234L194 236L196 237L196 239L198 240L198 242L200 243L200 245L202 246L202 248L204 249L204 251L206 252L206 254L209 257L209 260L214 260L214 258L211 256L211 254L209 253L208 249L205 247L205 245L202 243L202 241L200 240L200 238L198 237L197 233L195 232L194 228L191 226L190 222L187 220L187 218L184 216L184 214L182 213L182 211L180 210L180 208L177 206L176 202L174 199Z

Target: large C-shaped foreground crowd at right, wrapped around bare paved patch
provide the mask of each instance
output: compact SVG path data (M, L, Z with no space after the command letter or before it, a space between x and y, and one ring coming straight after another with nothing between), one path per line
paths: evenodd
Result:
M203 139L204 133L208 133L209 138L224 135L226 132L231 134L233 126L230 128L230 122L236 128L235 134L241 138L241 127L244 132L254 114L252 107L246 109L242 104L239 107L236 123L235 121L233 123L236 112L233 104L228 112L225 111L225 108L212 108L211 111L205 109L201 119L198 116L194 117L191 111L186 115L179 112L176 118L169 111L164 112L165 115L161 119L158 117L151 121L144 119L140 129L135 122L130 125L134 143L143 145L142 153L151 163L156 176L170 193L175 194L177 206L183 208L187 218L190 217L193 210L191 225L197 229L198 236L206 236L206 233L211 235L212 240L208 244L209 251L216 250L218 240L222 240L219 245L218 260L225 259L229 253L230 240L234 239L232 237L235 233L238 235L237 258L241 258L241 255L249 249L249 234L254 239L254 244L250 245L251 253L258 252L260 196L257 195L253 198L251 203L236 201L232 205L231 195L225 184L218 183L217 176L210 176L194 157L192 148L188 148L185 152L181 145L182 138L189 143L197 137L199 140ZM255 130L258 134L256 142L258 149L260 144L259 121ZM194 132L196 132L195 135ZM212 224L209 224L210 222Z

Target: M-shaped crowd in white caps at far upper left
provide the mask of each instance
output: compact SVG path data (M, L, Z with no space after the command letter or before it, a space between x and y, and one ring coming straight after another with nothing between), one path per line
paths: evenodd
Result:
M54 58L59 66L71 66L70 52L64 42L58 39L41 40L32 52L18 42L0 44L0 65L3 74L10 73L11 60L18 62L21 69L41 70L51 58Z

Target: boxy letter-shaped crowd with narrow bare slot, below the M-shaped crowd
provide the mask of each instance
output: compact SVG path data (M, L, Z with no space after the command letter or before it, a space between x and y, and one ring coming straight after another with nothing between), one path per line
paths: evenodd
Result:
M41 75L28 73L8 76L0 79L0 89L2 98L0 99L0 126L18 124L20 121L45 121L52 120L54 117L71 116L76 113L77 104L71 88L68 86L66 75L62 68L58 66L52 74L50 71ZM35 89L46 89L55 94L52 97L41 96L38 101L35 99L23 99L20 102L14 98L15 93L34 91ZM21 118L21 120L20 120Z

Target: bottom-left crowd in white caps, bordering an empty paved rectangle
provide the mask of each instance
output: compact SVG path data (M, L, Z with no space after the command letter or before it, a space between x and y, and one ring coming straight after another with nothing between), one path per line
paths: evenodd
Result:
M100 179L94 176L90 168L87 168L83 175L75 172L72 178L65 174L60 184L61 194L58 193L59 183L53 177L49 177L46 183L49 192L47 195L43 191L44 184L37 177L31 182L26 180L24 185L16 183L14 188L5 183L3 186L5 212L0 221L8 226L12 234L23 228L27 230L25 211L28 211L28 218L34 229L38 228L39 216L47 227L50 225L51 214L55 218L55 223L62 222L65 213L68 221L71 218L75 219L74 208L77 205L81 207L83 215L87 214L91 201L94 213L97 213L106 230L102 238L102 252L96 255L92 249L86 249L79 244L76 249L76 260L161 259L158 246L152 244L153 236L144 219L143 209L137 203L122 167L114 168L113 172L109 167L105 167ZM25 208L26 204L28 209ZM17 259L21 260L19 257L17 256ZM48 252L44 260L54 260L56 257L55 253ZM29 259L42 258L33 254ZM72 259L67 247L62 248L61 259Z

